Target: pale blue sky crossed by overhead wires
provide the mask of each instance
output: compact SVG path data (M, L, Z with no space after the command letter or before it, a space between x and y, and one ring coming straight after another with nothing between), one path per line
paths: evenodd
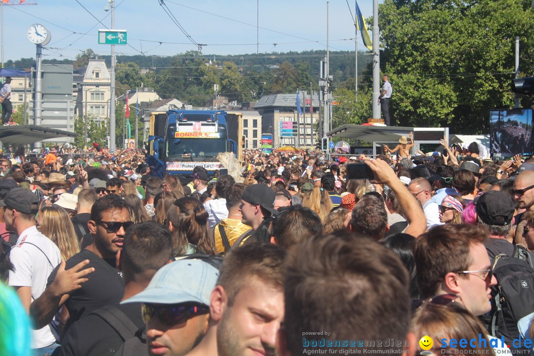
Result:
M33 23L41 23L52 34L43 51L45 59L74 59L88 48L98 54L111 52L110 46L97 43L98 29L104 26L92 16L111 28L111 16L104 11L106 0L26 1L37 5L3 6L4 61L35 58L35 45L26 35ZM256 1L164 0L164 3L193 41L207 44L202 53L256 53ZM354 14L354 0L349 0L349 5ZM372 15L371 0L360 1L358 5L364 17ZM197 49L170 20L160 0L116 0L115 6L115 29L128 30L131 46L116 46L118 54L172 56ZM329 7L331 50L354 51L355 28L347 1L332 0ZM326 0L259 0L259 9L260 53L326 49ZM360 38L358 49L365 49Z

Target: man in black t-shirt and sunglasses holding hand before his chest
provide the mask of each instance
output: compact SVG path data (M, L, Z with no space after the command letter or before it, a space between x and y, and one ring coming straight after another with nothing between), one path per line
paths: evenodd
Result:
M50 274L43 295L32 303L30 312L37 326L48 324L65 304L61 311L61 336L73 322L88 313L119 303L124 294L124 280L116 267L115 255L122 249L125 230L132 225L122 197L109 194L97 199L88 223L92 241L82 240L82 245L87 247ZM79 264L87 267L82 272L94 270L89 281L81 286L76 282L77 274L70 271Z

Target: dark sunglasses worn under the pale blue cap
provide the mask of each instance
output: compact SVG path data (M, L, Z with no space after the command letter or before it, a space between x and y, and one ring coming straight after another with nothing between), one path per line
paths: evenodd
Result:
M143 303L141 305L141 316L146 325L148 325L154 315L165 325L179 325L187 321L193 315L206 314L209 312L207 306L188 305L188 304L162 304L154 305Z

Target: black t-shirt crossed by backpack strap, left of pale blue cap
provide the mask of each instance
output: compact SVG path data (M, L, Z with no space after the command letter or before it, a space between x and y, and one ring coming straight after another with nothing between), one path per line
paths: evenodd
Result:
M128 319L141 329L145 326L141 318L141 303L115 305ZM76 321L61 341L60 356L112 356L123 341L115 329L98 315L87 315ZM146 348L146 347L145 347Z

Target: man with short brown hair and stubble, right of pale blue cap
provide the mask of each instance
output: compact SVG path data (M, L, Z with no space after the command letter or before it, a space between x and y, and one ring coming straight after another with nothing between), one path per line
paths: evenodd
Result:
M208 331L188 356L275 354L284 321L285 255L273 244L250 243L224 257L210 296Z

